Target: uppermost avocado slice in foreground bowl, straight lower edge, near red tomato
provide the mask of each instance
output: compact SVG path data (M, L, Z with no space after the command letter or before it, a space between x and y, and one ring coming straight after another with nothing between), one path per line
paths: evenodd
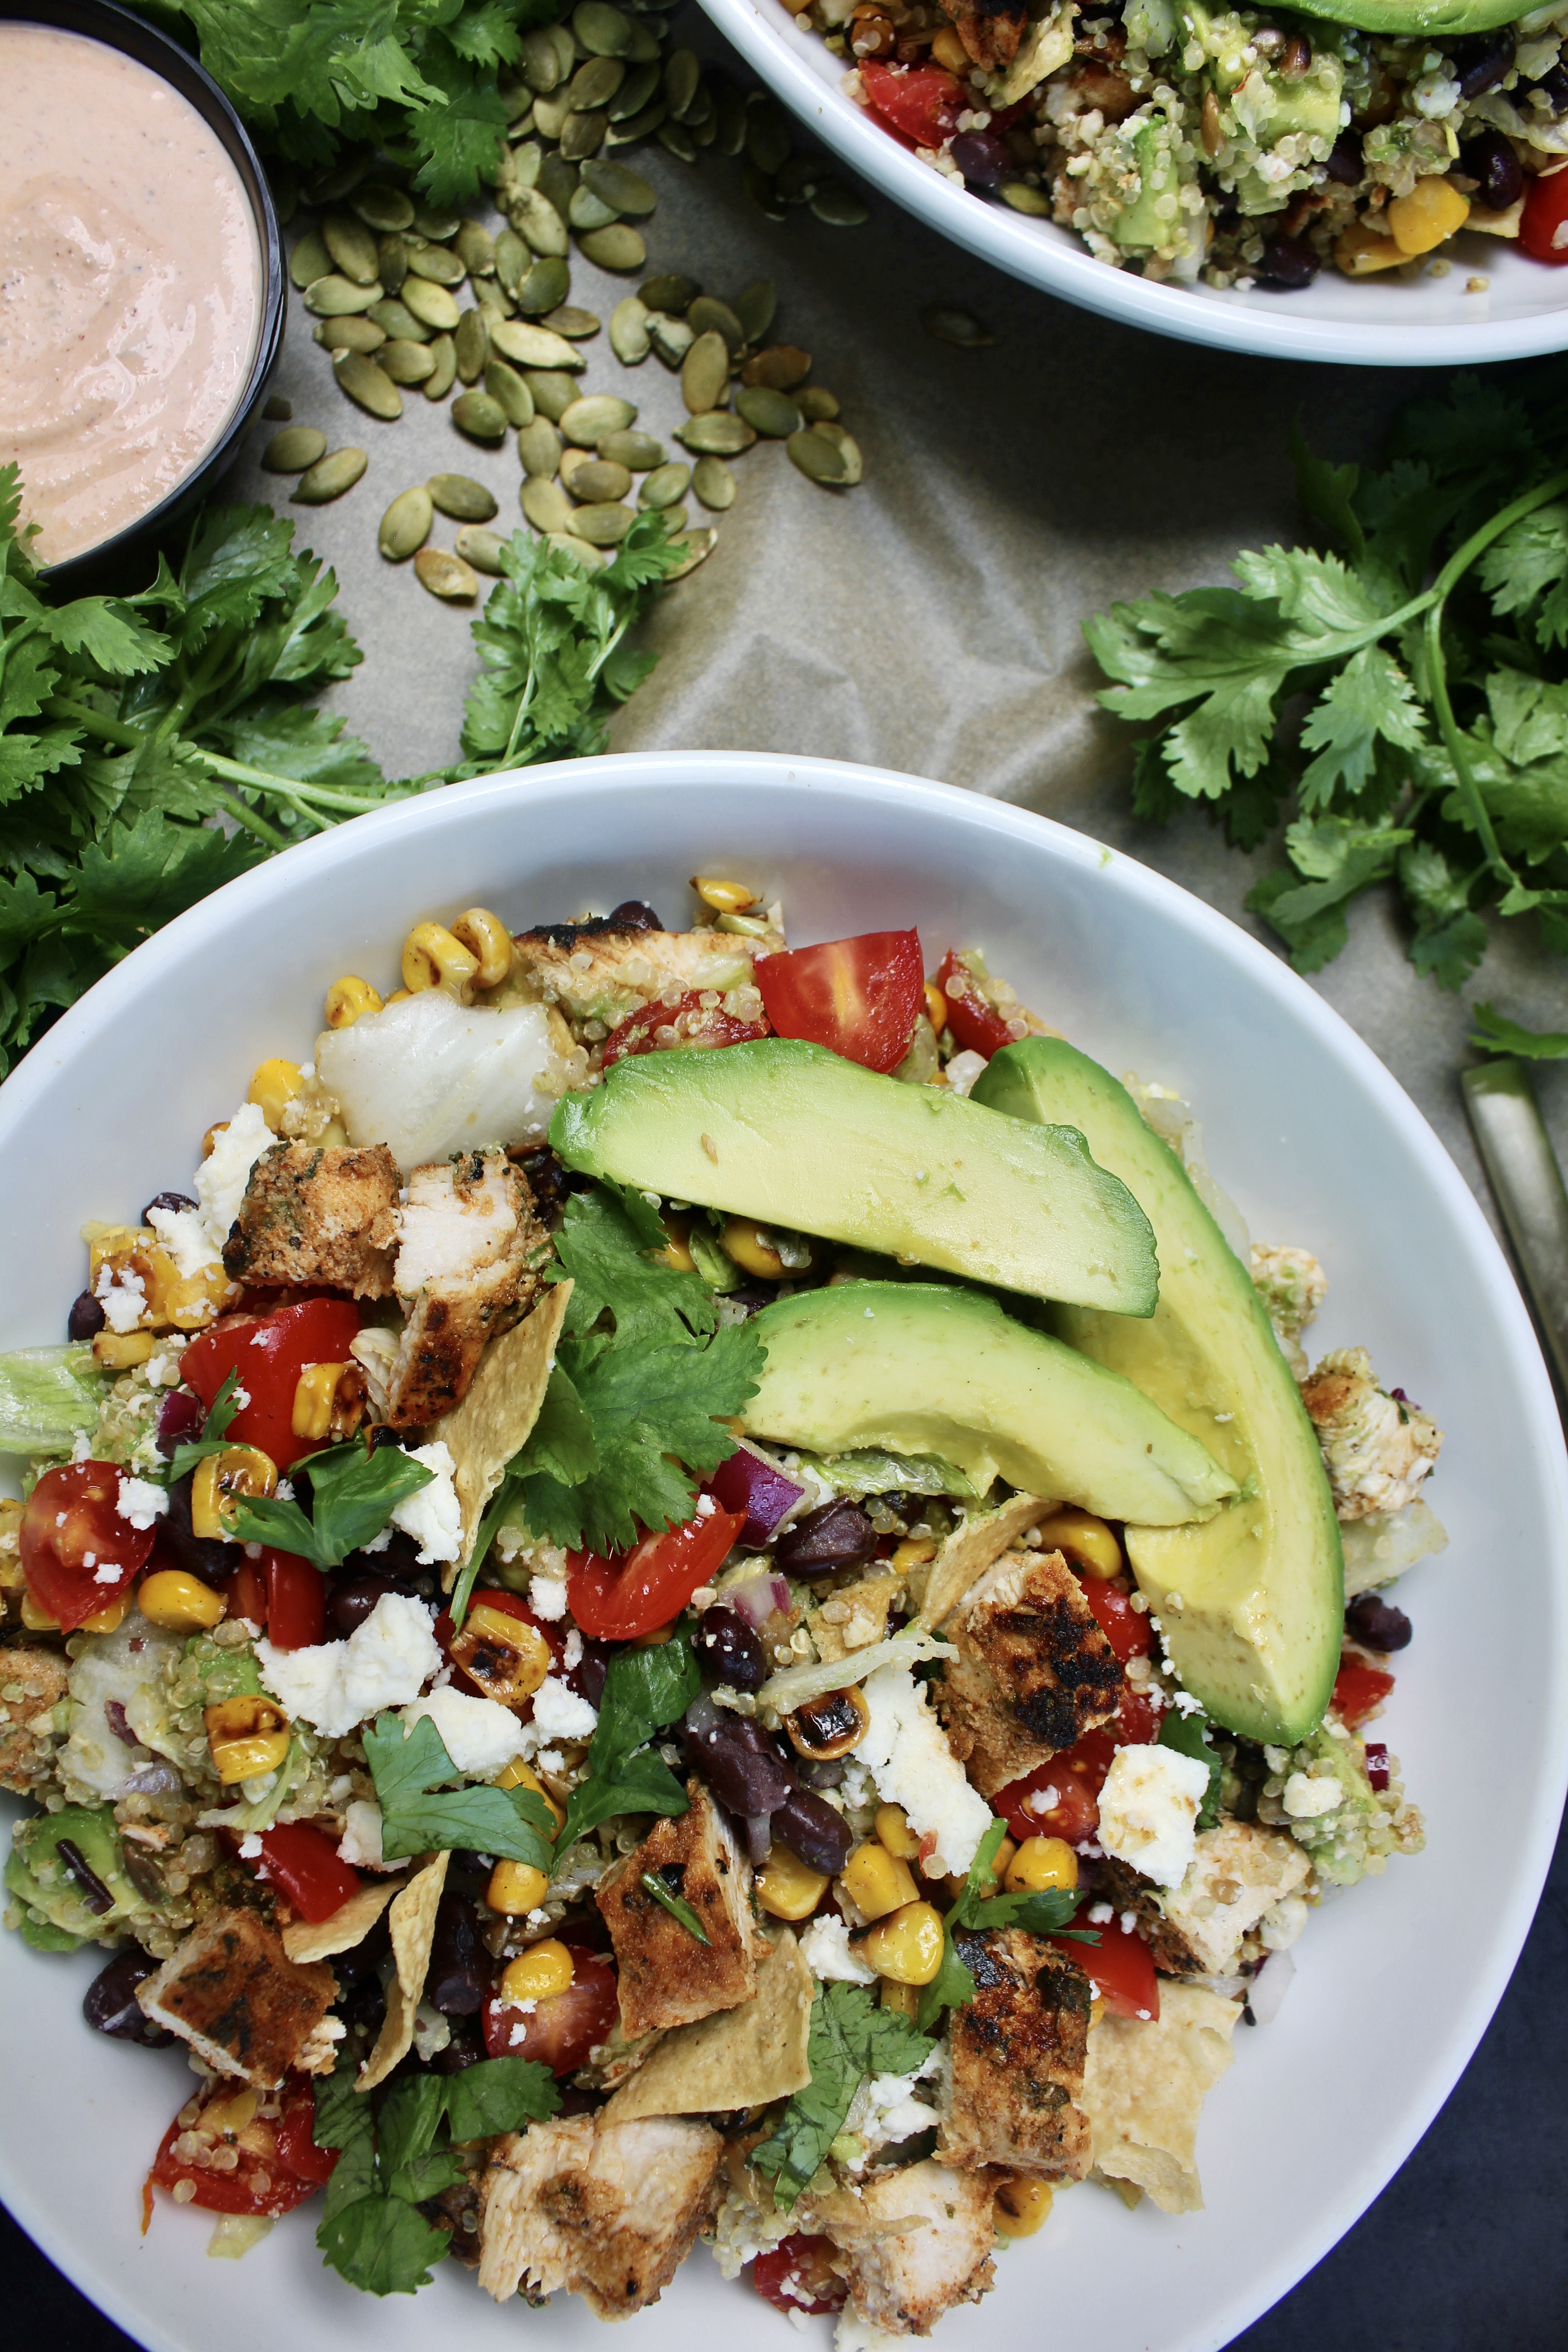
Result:
M632 1054L550 1120L569 1169L1112 1315L1152 1315L1150 1221L1072 1127L1023 1129L820 1044Z

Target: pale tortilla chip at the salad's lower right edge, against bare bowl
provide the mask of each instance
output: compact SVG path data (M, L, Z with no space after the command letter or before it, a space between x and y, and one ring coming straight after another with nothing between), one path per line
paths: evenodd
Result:
M1159 1987L1159 2018L1100 2018L1088 2032L1079 2105L1088 2114L1095 2169L1131 2180L1161 2213L1201 2213L1197 2129L1204 2093L1234 2051L1241 2009L1204 1985Z

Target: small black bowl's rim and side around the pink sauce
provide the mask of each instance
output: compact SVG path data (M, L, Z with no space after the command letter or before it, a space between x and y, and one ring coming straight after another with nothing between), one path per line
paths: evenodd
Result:
M287 292L273 193L249 132L219 85L176 40L169 40L167 33L160 33L143 16L110 7L108 0L0 0L0 19L47 24L61 33L85 33L110 49L125 49L136 64L158 73L219 134L256 216L256 238L261 245L261 327L244 390L228 423L167 499L160 499L158 506L148 508L146 515L122 532L115 532L113 539L99 541L96 548L82 548L80 555L68 555L47 569L49 588L73 595L85 590L143 588L153 576L158 548L179 536L176 524L207 496L223 468L235 461L240 442L266 397L268 376L282 346Z

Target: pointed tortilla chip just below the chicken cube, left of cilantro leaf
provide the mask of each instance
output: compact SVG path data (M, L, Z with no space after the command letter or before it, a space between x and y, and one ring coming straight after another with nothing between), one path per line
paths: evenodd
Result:
M766 2107L811 2082L806 2037L816 1985L785 1929L757 1969L757 1997L663 2034L604 2107L607 2124L644 2114L724 2114Z

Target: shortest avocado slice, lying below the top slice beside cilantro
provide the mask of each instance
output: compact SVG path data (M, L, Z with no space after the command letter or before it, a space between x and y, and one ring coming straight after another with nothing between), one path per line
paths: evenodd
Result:
M1025 1494L1147 1526L1208 1517L1237 1491L1131 1381L978 1291L832 1282L762 1308L752 1331L769 1350L745 1406L752 1437L813 1454L943 1454L980 1494L999 1472Z

